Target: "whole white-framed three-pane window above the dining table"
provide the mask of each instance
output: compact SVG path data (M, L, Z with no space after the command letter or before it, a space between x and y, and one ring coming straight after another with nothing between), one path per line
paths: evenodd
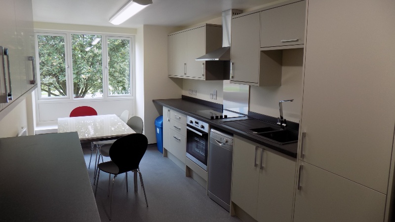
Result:
M132 95L131 37L76 33L36 36L39 99Z

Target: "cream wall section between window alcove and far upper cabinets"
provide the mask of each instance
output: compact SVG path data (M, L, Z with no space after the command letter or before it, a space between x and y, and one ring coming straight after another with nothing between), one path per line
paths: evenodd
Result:
M139 28L138 37L140 31ZM162 107L154 105L152 100L181 98L182 79L167 77L167 34L174 32L174 28L145 25L142 31L144 37L143 120L145 135L148 143L152 144L156 143L155 118L162 115ZM140 83L136 80L136 85ZM137 93L137 97L140 97L140 93ZM141 103L136 103L136 105L136 109L140 109Z

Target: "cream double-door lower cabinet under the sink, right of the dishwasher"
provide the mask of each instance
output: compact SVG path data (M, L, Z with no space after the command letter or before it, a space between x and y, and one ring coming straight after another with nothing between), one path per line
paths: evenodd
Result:
M235 135L232 202L253 219L290 222L296 159Z

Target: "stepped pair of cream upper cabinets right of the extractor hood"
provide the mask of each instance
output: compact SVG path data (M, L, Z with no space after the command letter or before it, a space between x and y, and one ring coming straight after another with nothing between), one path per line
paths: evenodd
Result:
M282 50L304 47L306 0L232 17L231 83L281 85Z

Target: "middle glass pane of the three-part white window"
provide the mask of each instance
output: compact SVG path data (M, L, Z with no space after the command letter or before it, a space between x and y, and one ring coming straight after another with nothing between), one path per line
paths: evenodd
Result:
M103 97L101 38L72 35L74 98Z

